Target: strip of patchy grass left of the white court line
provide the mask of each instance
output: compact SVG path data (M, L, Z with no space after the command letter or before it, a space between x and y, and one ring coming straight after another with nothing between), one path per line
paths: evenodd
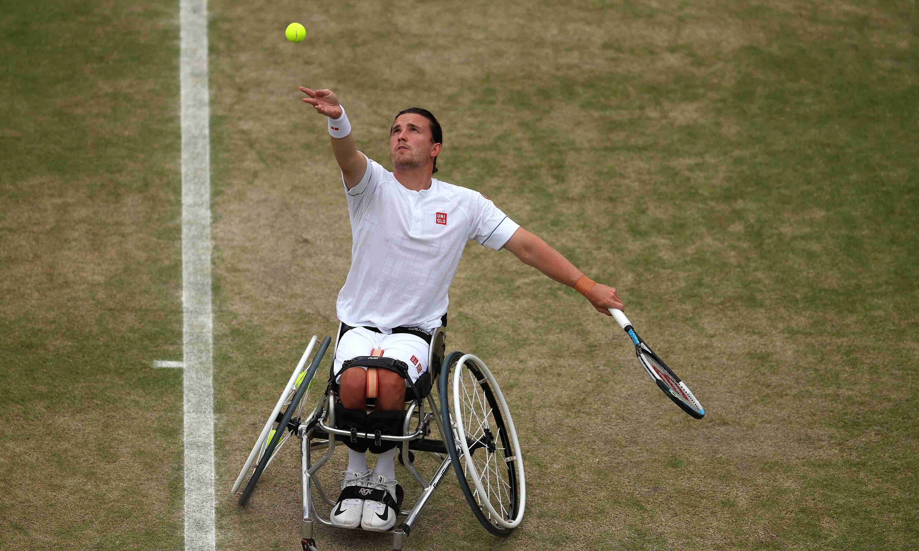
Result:
M182 546L173 2L0 17L0 547Z

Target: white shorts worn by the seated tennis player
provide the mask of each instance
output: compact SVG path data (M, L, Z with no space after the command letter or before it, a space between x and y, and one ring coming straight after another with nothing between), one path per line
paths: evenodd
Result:
M359 355L370 355L373 349L383 351L383 356L402 360L408 365L408 375L412 382L418 380L427 371L427 355L430 345L421 337L410 333L393 333L391 335L372 332L363 327L349 330L338 341L335 350L335 380L341 378L342 363ZM408 383L405 383L408 386Z

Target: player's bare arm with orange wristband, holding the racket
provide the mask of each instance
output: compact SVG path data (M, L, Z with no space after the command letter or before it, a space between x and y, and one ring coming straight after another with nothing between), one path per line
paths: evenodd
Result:
M594 282L587 279L581 270L575 268L574 264L562 256L562 253L551 248L547 242L529 231L523 228L515 231L505 243L504 248L514 253L524 264L533 266L559 283L577 289L587 300L590 300L598 312L609 316L607 308L623 309L622 300L616 289L598 283L594 285Z

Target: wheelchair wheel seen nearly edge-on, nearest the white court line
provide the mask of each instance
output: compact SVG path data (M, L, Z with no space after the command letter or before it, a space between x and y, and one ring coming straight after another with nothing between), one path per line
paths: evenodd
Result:
M258 460L255 462L255 467L253 467L252 475L249 477L249 481L246 483L243 493L239 497L240 505L245 505L245 502L249 500L249 496L252 495L255 485L258 484L258 478L262 476L266 467L274 460L281 446L283 446L290 435L293 434L295 430L294 425L303 420L303 405L307 403L307 395L312 387L312 378L316 375L316 369L319 367L320 362L322 362L325 350L329 347L331 341L332 339L330 337L325 337L325 339L323 339L323 343L319 347L319 352L317 352L312 359L312 363L301 372L301 376L297 378L296 385L289 390L283 410L278 413L278 418L272 426L271 432L268 433L266 443L263 444L262 449L259 451ZM295 420L293 424L291 424L292 419Z

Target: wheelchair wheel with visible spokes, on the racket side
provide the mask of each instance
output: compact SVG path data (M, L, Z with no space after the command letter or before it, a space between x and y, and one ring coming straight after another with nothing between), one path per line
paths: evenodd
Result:
M452 352L441 368L439 393L444 441L459 488L486 530L510 534L523 520L527 485L501 388L482 360Z

